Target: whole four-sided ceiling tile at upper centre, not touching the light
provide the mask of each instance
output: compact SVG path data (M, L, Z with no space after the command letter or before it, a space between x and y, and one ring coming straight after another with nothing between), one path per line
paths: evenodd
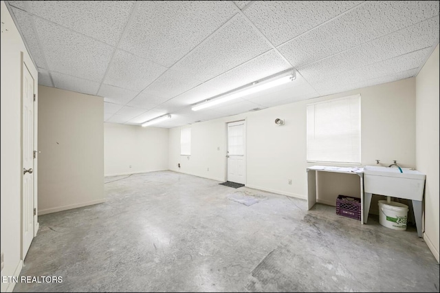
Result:
M209 80L269 50L263 37L237 14L173 68L199 80Z

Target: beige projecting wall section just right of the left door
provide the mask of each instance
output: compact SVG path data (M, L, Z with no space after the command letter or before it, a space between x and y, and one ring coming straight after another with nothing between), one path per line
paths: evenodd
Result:
M104 202L104 100L39 86L39 215Z

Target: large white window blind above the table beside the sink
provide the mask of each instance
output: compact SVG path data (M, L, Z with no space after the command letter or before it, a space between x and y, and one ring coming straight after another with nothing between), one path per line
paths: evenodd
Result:
M307 161L360 164L360 95L307 105Z

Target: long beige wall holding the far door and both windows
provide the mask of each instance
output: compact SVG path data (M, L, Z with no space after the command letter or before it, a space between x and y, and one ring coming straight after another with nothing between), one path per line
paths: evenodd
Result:
M180 127L175 127L170 129L169 169L225 180L225 123L246 119L246 185L305 199L306 169L314 165L306 162L306 105L353 94L362 96L362 165L376 164L377 159L387 165L397 160L401 166L415 167L415 78L408 78L192 124L189 160L179 155ZM285 125L276 126L275 118L284 118ZM289 179L292 185L287 183ZM353 183L356 180L354 177L351 186L358 186ZM334 194L324 194L322 200L336 202L337 188L333 189ZM357 195L360 190L348 192Z

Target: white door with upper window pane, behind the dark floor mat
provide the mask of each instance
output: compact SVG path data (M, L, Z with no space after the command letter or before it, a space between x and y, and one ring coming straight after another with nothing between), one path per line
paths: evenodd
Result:
M228 123L228 181L246 183L245 121Z

